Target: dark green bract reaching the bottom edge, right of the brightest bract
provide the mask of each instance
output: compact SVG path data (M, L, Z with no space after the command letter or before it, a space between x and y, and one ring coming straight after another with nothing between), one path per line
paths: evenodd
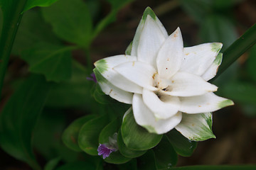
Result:
M178 155L171 146L168 138L164 136L159 145L154 147L156 169L171 169L178 161Z

